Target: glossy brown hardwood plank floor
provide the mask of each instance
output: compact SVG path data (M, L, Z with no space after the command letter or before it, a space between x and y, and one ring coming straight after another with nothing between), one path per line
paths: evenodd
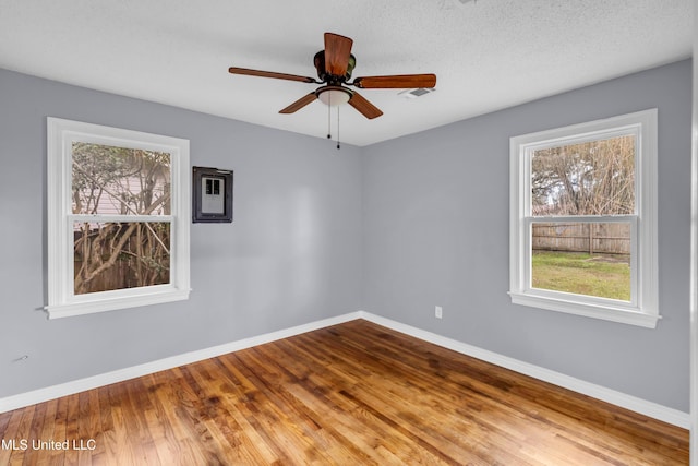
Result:
M5 413L0 439L0 465L688 464L686 430L366 321Z

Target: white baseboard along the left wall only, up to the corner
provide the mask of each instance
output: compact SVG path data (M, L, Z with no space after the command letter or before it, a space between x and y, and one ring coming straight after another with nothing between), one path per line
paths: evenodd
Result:
M11 411L13 409L19 409L37 403L47 402L49 399L59 398L61 396L68 396L74 393L84 392L86 390L109 385L111 383L135 379L137 377L152 374L196 361L202 361L208 358L215 358L216 356L226 355L232 351L239 351L240 349L251 348L253 346L262 345L281 338L288 338L289 336L300 335L302 333L312 332L317 328L340 324L359 318L359 312L351 312L336 318L324 319L322 321L298 325L278 332L272 332L251 338L244 338L224 345L213 346L210 348L204 348L197 351L184 353L182 355L158 359L157 361L146 362L125 369L106 372L99 375L88 377L85 379L74 380L72 382L65 382L58 385L47 386L45 389L34 390L32 392L21 393L19 395L8 396L4 398L0 398L0 413Z

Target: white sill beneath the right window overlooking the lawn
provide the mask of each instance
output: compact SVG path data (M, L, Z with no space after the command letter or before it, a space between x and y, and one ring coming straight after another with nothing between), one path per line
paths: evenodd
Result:
M637 325L646 328L655 328L661 319L659 314L650 314L634 310L636 308L613 304L597 304L579 302L561 297L540 296L530 292L509 291L514 304L545 309L549 311L565 312L568 314L583 315L628 325Z

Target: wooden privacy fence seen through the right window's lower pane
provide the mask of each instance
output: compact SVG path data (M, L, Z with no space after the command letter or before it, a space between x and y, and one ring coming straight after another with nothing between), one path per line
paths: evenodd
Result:
M531 235L533 250L630 253L630 225L625 223L534 223Z

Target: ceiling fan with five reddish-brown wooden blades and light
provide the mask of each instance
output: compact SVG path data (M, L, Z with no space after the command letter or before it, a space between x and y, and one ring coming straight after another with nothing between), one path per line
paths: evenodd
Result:
M435 74L397 74L388 76L364 76L356 77L353 82L351 72L357 64L357 59L351 55L353 40L338 34L325 33L325 49L315 53L313 62L317 70L317 77L300 76L296 74L275 73L272 71L250 70L246 68L230 67L228 71L232 74L244 74L249 76L274 77L277 80L298 81L311 84L324 84L312 93L304 95L293 104L281 109L279 113L294 113L314 100L321 100L329 106L349 104L361 115L373 119L383 115L383 111L366 100L356 91L347 86L361 89L373 88L419 88L434 87L436 85Z

